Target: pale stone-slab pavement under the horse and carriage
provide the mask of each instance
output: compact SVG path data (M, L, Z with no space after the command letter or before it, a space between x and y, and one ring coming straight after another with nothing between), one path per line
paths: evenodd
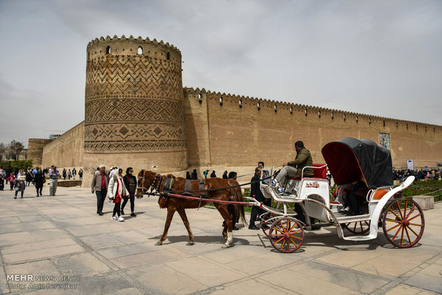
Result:
M377 239L355 243L327 227L306 232L298 252L282 254L247 227L222 249L215 209L187 210L194 246L186 246L178 214L168 241L154 246L166 215L156 197L135 199L138 216L115 222L113 204L98 216L88 189L34 192L29 187L18 200L0 192L1 294L442 293L442 203L424 212L423 238L411 249L395 249L381 229Z

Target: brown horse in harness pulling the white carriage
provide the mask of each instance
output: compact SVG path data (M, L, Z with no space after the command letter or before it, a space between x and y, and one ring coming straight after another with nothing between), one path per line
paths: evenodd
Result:
M173 182L170 182L170 177L173 178ZM166 181L168 179L168 181ZM172 185L170 185L172 183ZM183 223L187 229L189 234L189 242L187 245L195 244L193 242L193 234L190 230L190 224L187 220L187 216L185 214L185 209L190 208L199 208L207 205L208 201L200 201L200 200L189 200L181 197L172 197L163 193L164 186L170 186L170 190L173 191L173 194L182 195L183 192L190 191L191 195L202 196L203 199L211 199L211 200L222 200L229 201L230 196L233 197L233 201L242 202L242 192L239 184L236 180L229 179L224 180L221 178L207 178L204 180L204 190L207 190L207 196L203 196L200 188L200 180L191 180L190 187L185 187L186 179L183 177L175 177L174 175L159 175L153 171L149 170L141 170L138 173L138 185L137 185L137 197L142 197L150 187L157 190L160 193L160 199L158 203L160 208L168 208L168 217L166 218L166 222L164 225L164 232L161 238L155 245L163 244L164 240L168 235L168 230L170 227L170 222L172 222L173 214L175 211L178 211L181 219L183 219ZM220 190L216 190L220 189ZM224 239L227 239L225 244L222 246L223 248L228 248L232 245L233 235L232 235L232 214L227 211L227 204L225 203L217 203L214 202L215 207L220 212L222 218L225 220L225 227L222 230L222 236ZM244 215L244 206L243 205L235 205L236 216L240 216L242 222L246 224L245 215Z

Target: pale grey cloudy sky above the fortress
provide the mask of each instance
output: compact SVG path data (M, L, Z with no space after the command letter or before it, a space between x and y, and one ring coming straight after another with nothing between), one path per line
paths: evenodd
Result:
M123 34L183 86L442 125L442 1L0 0L0 143L84 120L86 46Z

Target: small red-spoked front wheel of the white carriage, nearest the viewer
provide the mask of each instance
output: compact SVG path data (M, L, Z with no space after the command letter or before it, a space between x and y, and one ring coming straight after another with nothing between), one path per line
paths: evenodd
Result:
M304 242L304 229L292 217L282 217L273 222L269 230L270 243L282 253L294 252Z

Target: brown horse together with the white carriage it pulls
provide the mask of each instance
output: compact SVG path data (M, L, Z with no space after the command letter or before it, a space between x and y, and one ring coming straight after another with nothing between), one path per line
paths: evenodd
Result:
M278 195L272 187L273 168L262 170L259 186L264 197L274 200L272 207L253 197L248 198L249 202L244 202L241 185L236 180L185 180L149 170L138 173L137 196L142 197L149 188L150 193L156 190L160 207L168 209L158 245L166 239L175 212L180 214L189 234L187 244L194 244L185 209L199 208L209 202L214 203L225 220L222 235L226 242L223 247L230 247L233 241L232 215L227 210L227 204L237 205L236 214L242 220L245 220L244 205L264 209L265 213L261 215L262 231L279 252L299 249L304 242L304 229L311 229L316 221L323 227L335 226L338 236L350 241L376 239L379 227L384 229L386 239L396 247L412 247L421 239L425 227L421 207L411 199L398 197L401 190L411 185L414 177L408 177L401 185L394 187L389 150L371 140L343 138L325 145L322 155L327 164L314 164L313 177L285 182L283 195ZM367 192L363 200L358 200L361 212L353 215L344 212L339 194L336 194L336 200L331 200L327 167L340 192L353 182L364 182Z

